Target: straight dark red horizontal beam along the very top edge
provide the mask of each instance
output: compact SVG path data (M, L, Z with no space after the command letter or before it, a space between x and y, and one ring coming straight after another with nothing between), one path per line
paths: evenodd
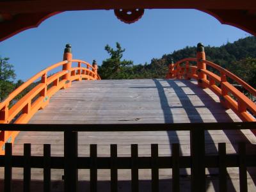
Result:
M118 8L192 8L200 10L256 10L255 0L16 0L0 1L2 13L111 10Z

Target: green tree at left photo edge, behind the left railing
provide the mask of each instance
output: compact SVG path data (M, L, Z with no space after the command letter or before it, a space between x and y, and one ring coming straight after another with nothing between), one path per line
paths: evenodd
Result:
M9 58L0 57L0 102L2 102L15 88L13 80L15 71L13 65L8 63Z

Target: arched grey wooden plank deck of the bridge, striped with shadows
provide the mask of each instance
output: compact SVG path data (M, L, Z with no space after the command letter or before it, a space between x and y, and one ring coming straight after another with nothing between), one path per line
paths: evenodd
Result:
M70 88L60 90L51 98L49 105L38 111L29 124L150 124L184 122L239 122L230 110L225 110L218 97L209 89L202 90L196 81L187 80L108 80L73 82ZM196 128L196 127L195 127ZM109 156L109 144L118 144L118 156L131 156L130 144L138 143L139 156L150 156L150 144L159 143L159 156L172 154L170 143L180 143L180 153L190 154L188 131L161 132L79 132L79 156L89 156L89 145L98 144L98 156ZM216 154L217 143L227 143L227 154L237 152L237 143L247 143L249 153L256 152L255 136L251 131L206 131L205 153ZM63 156L63 133L20 132L15 141L13 154L23 153L23 143L32 143L32 154L42 155L44 143L51 143L52 156ZM22 178L22 170L13 169L13 179ZM15 171L16 170L16 171ZM3 175L3 170L1 171ZM42 179L43 170L32 170L32 179ZM228 168L228 191L239 191L239 172ZM182 191L189 189L189 169L181 170ZM207 170L207 191L218 191L218 170ZM52 170L52 180L61 180L63 170ZM99 189L108 191L109 170L99 170ZM248 172L250 191L255 188L255 170ZM141 191L150 191L150 170L140 170L140 180L145 185ZM171 170L160 170L160 191L170 191ZM79 170L79 180L90 179L87 170ZM118 170L120 191L129 191L131 170ZM162 184L161 184L162 183ZM81 184L88 188L88 184ZM108 186L106 188L106 186ZM56 183L56 191L63 184Z

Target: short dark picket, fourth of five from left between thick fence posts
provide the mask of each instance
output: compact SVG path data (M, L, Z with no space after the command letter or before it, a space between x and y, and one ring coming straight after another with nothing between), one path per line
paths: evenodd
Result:
M151 144L151 177L152 192L159 191L159 170L158 170L158 145Z

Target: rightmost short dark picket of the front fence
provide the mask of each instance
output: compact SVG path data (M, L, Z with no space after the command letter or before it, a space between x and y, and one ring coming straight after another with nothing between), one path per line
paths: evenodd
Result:
M246 192L248 191L247 186L247 173L246 173L246 148L245 143L239 143L238 145L238 153L239 153L239 186L240 191Z

